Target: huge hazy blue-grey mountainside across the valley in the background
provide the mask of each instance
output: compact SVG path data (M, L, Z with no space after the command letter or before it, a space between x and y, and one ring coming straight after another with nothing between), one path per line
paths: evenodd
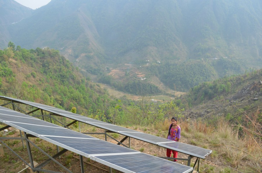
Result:
M201 82L261 68L261 16L259 0L52 0L22 21L1 26L0 46L10 40L28 49L54 48L92 75L110 75L103 69L114 70L121 64L132 64L130 71L147 75L155 66L142 72L137 67L147 60L160 61L147 85L155 88L162 82L167 90L174 90L175 84L176 90L188 91ZM208 70L191 68L199 75L195 81L189 73L175 77L175 67L181 64L182 69L192 64ZM113 80L125 83L135 75L131 77ZM154 82L155 78L160 81Z

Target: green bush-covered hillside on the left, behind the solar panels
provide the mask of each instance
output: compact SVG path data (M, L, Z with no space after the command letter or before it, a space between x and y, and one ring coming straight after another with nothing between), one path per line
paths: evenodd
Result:
M10 42L0 50L0 94L92 115L111 98L54 49L24 49ZM87 111L88 110L88 111Z

